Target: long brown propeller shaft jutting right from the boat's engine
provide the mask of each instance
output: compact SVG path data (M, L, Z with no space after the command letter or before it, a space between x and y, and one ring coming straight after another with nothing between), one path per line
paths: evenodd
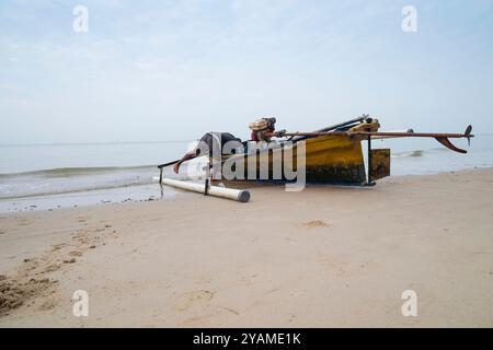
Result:
M440 142L446 148L459 152L468 153L468 151L459 149L454 145L449 139L467 138L470 144L472 126L468 126L463 133L436 133L436 132L378 132L378 131L330 131L330 132L286 132L284 136L307 136L307 137L318 137L318 136L329 136L329 135L340 135L340 136L362 136L362 137L386 137L386 138L434 138Z

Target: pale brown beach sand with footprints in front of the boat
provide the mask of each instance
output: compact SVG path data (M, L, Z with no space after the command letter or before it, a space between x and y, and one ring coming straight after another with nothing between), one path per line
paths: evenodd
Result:
M493 326L493 170L251 192L0 214L0 327Z

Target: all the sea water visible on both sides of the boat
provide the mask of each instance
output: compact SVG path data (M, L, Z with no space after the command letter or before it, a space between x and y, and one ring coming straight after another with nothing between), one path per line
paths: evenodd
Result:
M479 135L468 154L452 152L434 139L374 140L390 148L391 175L423 175L493 166L493 135ZM363 142L364 150L366 142ZM0 145L0 212L172 198L161 189L157 164L179 159L193 142L130 142ZM366 152L364 152L366 153ZM197 166L197 164L193 164ZM175 175L171 167L164 176Z

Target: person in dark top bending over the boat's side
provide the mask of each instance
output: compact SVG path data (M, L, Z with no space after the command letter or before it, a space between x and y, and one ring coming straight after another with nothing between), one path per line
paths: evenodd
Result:
M233 143L229 143L233 142ZM177 174L180 172L180 166L183 162L190 161L194 158L202 156L202 155L208 155L209 158L213 158L213 151L215 149L221 150L225 148L225 144L228 143L228 149L237 149L237 150L243 150L243 144L241 143L241 139L234 137L233 135L229 132L207 132L204 135L200 140L198 141L198 144L190 152L186 152L180 161L174 164L174 172Z

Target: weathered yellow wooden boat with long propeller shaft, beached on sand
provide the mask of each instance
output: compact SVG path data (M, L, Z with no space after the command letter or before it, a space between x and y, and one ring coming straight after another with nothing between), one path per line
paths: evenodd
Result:
M238 162L243 162L244 176L232 179L222 178L221 182L234 184L234 186L238 183L244 182L293 182L293 179L287 178L284 172L280 178L279 176L274 176L274 159L282 159L282 168L284 168L285 162L289 162L296 171L298 143L305 141L305 178L307 184L374 186L377 179L390 175L390 149L374 149L371 147L371 140L388 138L434 138L451 151L467 153L466 150L454 145L449 139L466 138L468 143L470 143L470 139L474 137L471 135L471 126L468 126L463 133L414 132L412 129L381 132L378 131L379 128L380 124L378 119L363 115L358 118L311 132L285 132L284 137L287 138L286 141L268 143L266 148L256 150L253 153L248 152L248 148L245 147L244 153L222 155L222 163L227 161L230 163L236 162L237 164ZM362 141L367 141L366 167ZM246 142L243 143L245 144ZM160 184L163 183L163 167L174 163L176 161L158 166L160 168ZM252 170L252 166L255 168ZM262 174L261 168L267 168L268 171ZM253 178L252 172L254 174ZM204 191L207 194L211 187L215 186L210 186L210 182L207 178ZM231 198L231 195L229 198ZM246 198L245 195L242 198Z

